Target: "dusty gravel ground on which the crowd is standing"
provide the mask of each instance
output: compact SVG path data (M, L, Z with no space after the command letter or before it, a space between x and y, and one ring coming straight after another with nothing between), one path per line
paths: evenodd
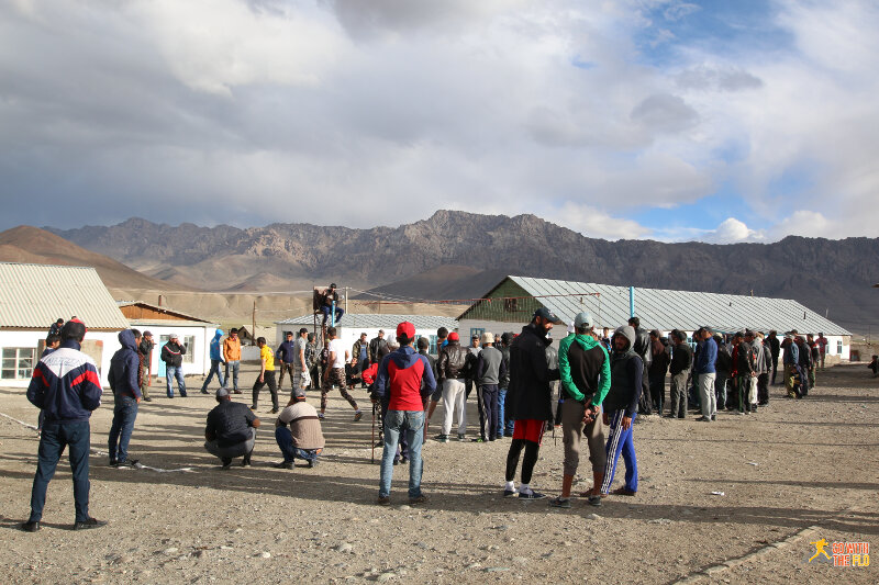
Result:
M76 533L66 458L48 487L43 529L19 530L38 443L19 421L35 424L37 412L23 390L0 389L0 413L19 420L0 417L3 582L876 583L876 566L808 562L810 542L822 538L879 543L879 380L870 375L864 365L836 367L803 401L775 386L756 415L723 413L714 424L644 417L634 431L638 494L598 508L577 499L568 510L501 497L509 439L429 441L430 503L407 505L408 468L398 466L393 505L377 506L363 390L354 392L367 413L359 423L332 397L318 468L271 468L280 455L266 394L254 465L222 471L202 448L213 396L188 379L188 398L167 400L154 386L131 442L133 458L170 471L108 468L112 400L94 413L90 511L110 525ZM254 376L244 371L243 385ZM247 401L247 391L236 398ZM472 398L469 407L475 437ZM557 443L545 438L532 481L552 495L561 481L557 435ZM582 461L576 487L586 488L586 453Z

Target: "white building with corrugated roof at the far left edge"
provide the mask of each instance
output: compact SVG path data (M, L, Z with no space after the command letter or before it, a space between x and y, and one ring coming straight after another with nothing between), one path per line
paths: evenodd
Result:
M48 329L78 317L88 331L82 351L108 385L110 359L129 322L93 268L0 262L0 386L26 387Z

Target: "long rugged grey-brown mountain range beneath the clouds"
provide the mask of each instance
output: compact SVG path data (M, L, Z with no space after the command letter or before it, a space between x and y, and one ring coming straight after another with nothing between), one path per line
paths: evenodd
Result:
M135 218L114 226L53 232L137 270L174 267L175 280L186 277L208 290L224 290L260 273L291 286L335 281L342 286L379 286L418 297L477 296L490 288L482 286L478 272L442 272L442 267L459 266L497 274L617 285L753 291L795 299L854 331L879 330L879 291L871 289L879 282L879 238L787 237L774 244L733 245L608 241L534 215L453 211L393 228L175 227ZM486 281L491 280L489 275L493 279L494 273L487 274ZM427 294L429 290L434 294Z

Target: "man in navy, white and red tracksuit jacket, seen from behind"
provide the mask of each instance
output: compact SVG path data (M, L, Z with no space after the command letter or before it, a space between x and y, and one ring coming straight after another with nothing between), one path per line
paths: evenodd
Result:
M27 532L40 530L48 482L68 446L76 505L74 530L107 524L89 516L89 418L101 405L102 391L94 360L79 350L85 337L82 322L67 322L60 346L40 360L27 386L27 400L46 415L31 491L31 516L22 525Z

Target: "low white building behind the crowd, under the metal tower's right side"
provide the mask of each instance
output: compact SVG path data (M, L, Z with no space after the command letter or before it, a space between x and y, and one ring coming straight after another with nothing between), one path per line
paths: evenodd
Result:
M290 319L276 322L276 339L278 345L285 339L285 331L293 331L298 335L300 328L305 327L309 331L320 333L323 315L318 315L316 328L314 315L302 315ZM378 336L379 329L385 330L385 339L392 340L397 335L397 325L408 320L415 326L415 337L426 337L431 341L431 353L436 353L436 329L445 327L449 331L457 330L458 322L453 317L441 317L434 315L383 315L377 313L351 314L345 313L336 323L338 337L348 351L354 342L359 339L360 334L365 333L367 339ZM329 326L329 324L327 324Z

